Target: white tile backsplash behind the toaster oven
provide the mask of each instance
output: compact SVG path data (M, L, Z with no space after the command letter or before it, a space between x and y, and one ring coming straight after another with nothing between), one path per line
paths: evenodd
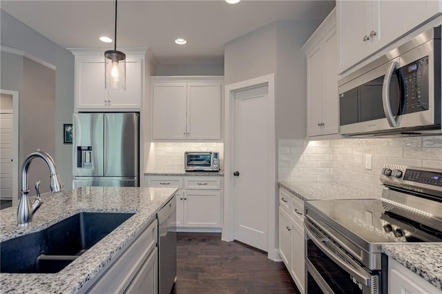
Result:
M151 145L150 170L184 170L184 152L214 151L220 153L220 168L224 170L224 143L155 142Z

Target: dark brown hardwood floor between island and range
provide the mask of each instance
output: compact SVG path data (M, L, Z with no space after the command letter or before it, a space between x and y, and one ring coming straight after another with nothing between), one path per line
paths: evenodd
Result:
M300 293L282 262L220 234L178 233L173 294Z

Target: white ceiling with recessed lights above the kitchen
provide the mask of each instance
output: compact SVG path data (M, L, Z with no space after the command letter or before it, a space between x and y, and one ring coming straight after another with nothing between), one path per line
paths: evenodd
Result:
M147 47L162 64L222 63L228 41L277 20L320 23L334 6L334 0L120 0L117 49ZM115 1L1 0L0 8L63 48L113 48L98 38L114 35ZM176 45L178 37L187 44Z

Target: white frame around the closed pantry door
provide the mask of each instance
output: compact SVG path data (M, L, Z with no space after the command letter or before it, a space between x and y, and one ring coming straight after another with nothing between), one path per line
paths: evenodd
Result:
M231 242L235 238L235 198L233 197L233 166L235 152L235 93L248 88L268 86L268 109L269 109L269 134L267 134L267 146L269 153L269 198L267 215L267 257L271 260L279 260L277 249L277 214L276 214L276 129L275 129L275 75L273 73L247 79L238 83L225 86L224 91L224 217L222 226L222 240Z

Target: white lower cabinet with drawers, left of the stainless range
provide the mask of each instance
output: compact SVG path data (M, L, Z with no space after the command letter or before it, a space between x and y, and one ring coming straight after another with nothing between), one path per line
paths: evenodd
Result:
M279 200L279 254L299 291L304 293L304 203L282 187Z

